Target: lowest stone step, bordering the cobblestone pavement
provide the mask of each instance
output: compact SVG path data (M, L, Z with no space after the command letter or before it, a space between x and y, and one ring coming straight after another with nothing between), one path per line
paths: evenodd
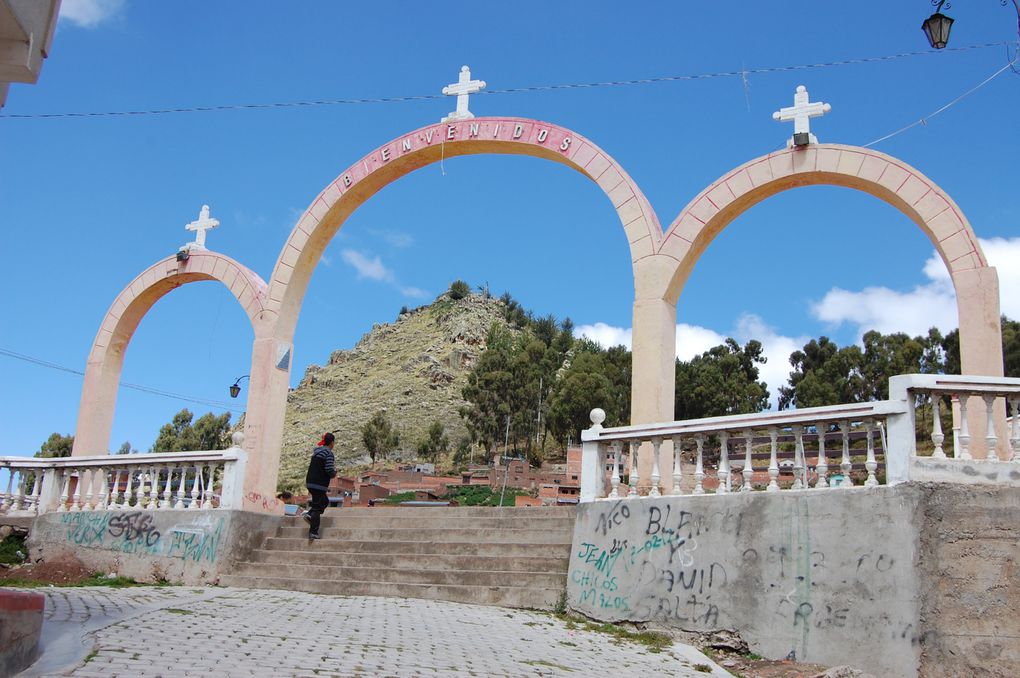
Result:
M504 608L553 610L564 592L557 588L406 584L377 581L335 581L328 579L292 579L291 577L256 577L249 575L222 575L221 586L245 588L277 588L285 590L327 593L332 595L378 595L385 597L414 597Z

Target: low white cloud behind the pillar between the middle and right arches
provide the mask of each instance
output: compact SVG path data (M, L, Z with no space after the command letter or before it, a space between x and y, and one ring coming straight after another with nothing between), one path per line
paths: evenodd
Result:
M607 348L622 344L629 349L632 330L629 327L614 327L604 322L597 322L591 325L578 325L574 328L574 335L586 336ZM728 334L720 334L714 329L700 325L678 323L676 357L680 360L691 360L724 343L727 336L732 336L742 345L750 340L761 342L766 362L758 366L759 379L768 384L769 403L774 408L779 397L779 386L784 385L789 376L789 354L804 348L810 341L809 337L779 334L761 317L746 313L737 318L736 327Z

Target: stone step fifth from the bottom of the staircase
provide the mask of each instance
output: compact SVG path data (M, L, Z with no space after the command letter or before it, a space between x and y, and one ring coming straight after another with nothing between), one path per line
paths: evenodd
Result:
M434 541L449 543L530 541L532 543L570 543L573 538L572 530L544 530L541 528L323 527L320 530L323 539L340 539L345 541ZM276 536L284 538L307 537L308 525L304 521L301 521L300 526L280 527L276 531Z

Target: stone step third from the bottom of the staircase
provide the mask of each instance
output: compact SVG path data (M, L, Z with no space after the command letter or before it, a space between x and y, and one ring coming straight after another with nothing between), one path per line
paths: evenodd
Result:
M253 563L273 565L329 565L329 566L372 566L418 570L490 570L512 572L559 572L567 571L569 547L551 550L548 544L542 544L539 550L533 546L520 550L517 555L508 555L494 549L492 555L473 555L443 552L405 553L395 550L392 553L366 553L351 551L323 551L318 549L321 541L292 544L293 547L282 550L258 550L252 554ZM504 545L504 544L499 544ZM557 553L548 553L555 551ZM541 555L540 555L541 554Z

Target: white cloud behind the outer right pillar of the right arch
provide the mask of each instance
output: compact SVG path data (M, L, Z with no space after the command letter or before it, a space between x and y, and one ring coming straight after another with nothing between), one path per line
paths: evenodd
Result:
M1020 238L979 239L981 249L999 272L1001 310L1011 318L1020 317L1020 298L1003 294L1020 284ZM857 325L858 336L869 329L882 333L924 334L931 326L944 333L957 326L956 294L949 271L936 253L924 262L928 282L909 292L888 288L865 288L860 292L829 290L812 305L812 314L833 326Z

